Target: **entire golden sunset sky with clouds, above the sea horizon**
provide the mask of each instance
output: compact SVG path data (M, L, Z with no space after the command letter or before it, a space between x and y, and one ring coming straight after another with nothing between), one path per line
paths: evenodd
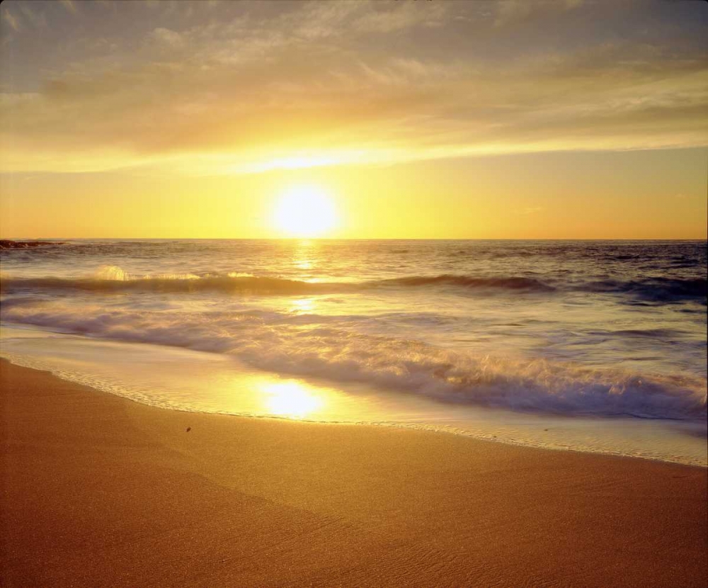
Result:
M705 239L707 40L699 1L7 0L0 236L292 237L316 193L312 236Z

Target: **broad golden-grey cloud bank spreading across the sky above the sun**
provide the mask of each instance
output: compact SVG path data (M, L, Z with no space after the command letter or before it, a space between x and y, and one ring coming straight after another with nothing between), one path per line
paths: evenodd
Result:
M199 23L157 17L120 55L85 55L36 91L6 91L2 168L220 174L706 144L700 43L669 30L665 43L510 45L549 11L571 20L545 26L567 27L594 6L275 3L214 18L226 4Z

